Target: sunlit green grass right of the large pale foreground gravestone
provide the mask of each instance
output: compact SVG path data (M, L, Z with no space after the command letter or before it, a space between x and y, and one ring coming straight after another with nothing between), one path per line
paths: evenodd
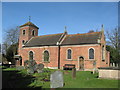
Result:
M118 88L118 80L98 79L98 74L90 71L78 71L76 78L64 75L64 88Z

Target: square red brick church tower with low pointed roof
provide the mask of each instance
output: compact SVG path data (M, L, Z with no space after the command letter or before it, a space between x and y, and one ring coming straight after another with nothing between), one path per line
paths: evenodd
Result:
M38 29L39 28L30 21L20 26L19 54L26 42L28 42L32 37L38 36Z

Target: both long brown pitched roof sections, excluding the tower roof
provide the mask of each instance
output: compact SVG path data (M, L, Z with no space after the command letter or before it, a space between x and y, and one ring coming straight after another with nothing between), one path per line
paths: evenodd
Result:
M29 40L25 47L55 46L64 33L37 36ZM66 35L61 45L97 44L101 32Z

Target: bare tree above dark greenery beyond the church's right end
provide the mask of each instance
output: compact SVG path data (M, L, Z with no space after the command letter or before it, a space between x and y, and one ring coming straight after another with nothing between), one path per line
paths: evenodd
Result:
M106 31L106 36L108 39L106 49L110 51L110 60L114 63L120 63L120 37L118 28Z

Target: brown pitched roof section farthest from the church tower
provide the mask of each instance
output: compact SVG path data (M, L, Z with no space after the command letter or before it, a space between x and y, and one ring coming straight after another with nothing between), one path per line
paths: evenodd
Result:
M66 35L62 45L97 44L99 38L101 38L101 32L71 34Z

